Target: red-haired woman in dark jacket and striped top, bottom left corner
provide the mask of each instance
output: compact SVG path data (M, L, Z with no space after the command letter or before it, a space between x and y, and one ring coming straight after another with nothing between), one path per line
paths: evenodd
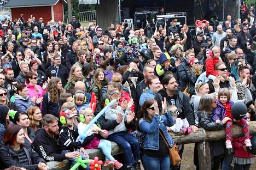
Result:
M24 147L24 142L24 130L21 126L11 125L7 128L0 149L1 168L16 166L30 170L47 170L44 159L33 149Z

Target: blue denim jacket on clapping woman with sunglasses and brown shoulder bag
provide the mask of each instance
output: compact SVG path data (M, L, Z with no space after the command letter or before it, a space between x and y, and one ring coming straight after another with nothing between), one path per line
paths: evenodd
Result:
M174 120L170 113L164 115L154 114L152 122L146 119L139 120L139 129L145 137L143 149L158 150L159 149L159 129L164 133L165 139L169 146L172 147L172 137L167 132L166 126L172 126Z

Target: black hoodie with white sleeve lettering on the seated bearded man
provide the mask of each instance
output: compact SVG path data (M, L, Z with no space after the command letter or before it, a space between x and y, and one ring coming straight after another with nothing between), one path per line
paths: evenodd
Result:
M66 159L65 154L61 154L61 148L56 139L50 137L43 128L36 132L36 138L34 138L32 145L46 162Z

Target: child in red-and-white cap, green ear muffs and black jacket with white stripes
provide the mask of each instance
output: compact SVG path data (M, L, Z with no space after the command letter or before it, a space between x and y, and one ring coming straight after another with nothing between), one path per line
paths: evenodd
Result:
M60 127L59 143L62 150L61 153L67 154L72 151L78 151L82 159L89 159L88 154L82 147L86 141L84 141L84 143L80 141L75 142L75 139L78 137L78 131L76 128L74 128L75 116L77 116L77 113L74 113L67 108L61 110L60 112L60 122L62 126ZM77 160L74 158L70 158L68 160L72 162L71 167L77 163ZM88 168L86 169L89 169L89 165L87 167Z

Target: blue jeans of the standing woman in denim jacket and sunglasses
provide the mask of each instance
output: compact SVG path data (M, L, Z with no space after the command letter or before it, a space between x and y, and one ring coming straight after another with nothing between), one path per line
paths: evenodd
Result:
M142 164L145 170L167 170L171 167L169 155L163 158L142 155Z

